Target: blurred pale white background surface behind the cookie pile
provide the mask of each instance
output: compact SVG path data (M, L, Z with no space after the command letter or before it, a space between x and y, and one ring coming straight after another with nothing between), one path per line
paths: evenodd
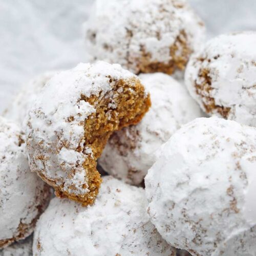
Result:
M34 75L87 61L82 24L93 1L0 0L0 113ZM256 30L256 0L189 2L208 37Z

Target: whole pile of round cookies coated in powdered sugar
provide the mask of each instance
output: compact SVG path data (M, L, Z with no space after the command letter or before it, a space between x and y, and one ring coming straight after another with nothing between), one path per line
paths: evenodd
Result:
M205 43L185 0L85 30L91 62L0 117L0 255L255 255L256 32Z

